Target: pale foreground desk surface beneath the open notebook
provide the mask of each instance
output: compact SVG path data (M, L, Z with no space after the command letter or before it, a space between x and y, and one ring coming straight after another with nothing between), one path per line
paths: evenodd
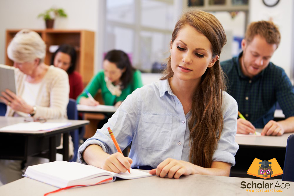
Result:
M241 188L241 182L250 183L273 183L271 190L282 190L278 192L258 192L258 195L294 195L294 182L278 181L289 183L289 188L274 188L277 181L264 179L250 179L238 177L209 176L209 175L188 175L180 179L161 178L158 176L138 178L133 180L118 180L89 187L72 188L49 194L49 196L81 196L81 195L119 195L119 196L172 196L172 195L252 195ZM57 190L57 187L24 177L0 187L2 195L44 195L47 192ZM269 190L269 189L254 189ZM257 194L257 193L253 193Z

